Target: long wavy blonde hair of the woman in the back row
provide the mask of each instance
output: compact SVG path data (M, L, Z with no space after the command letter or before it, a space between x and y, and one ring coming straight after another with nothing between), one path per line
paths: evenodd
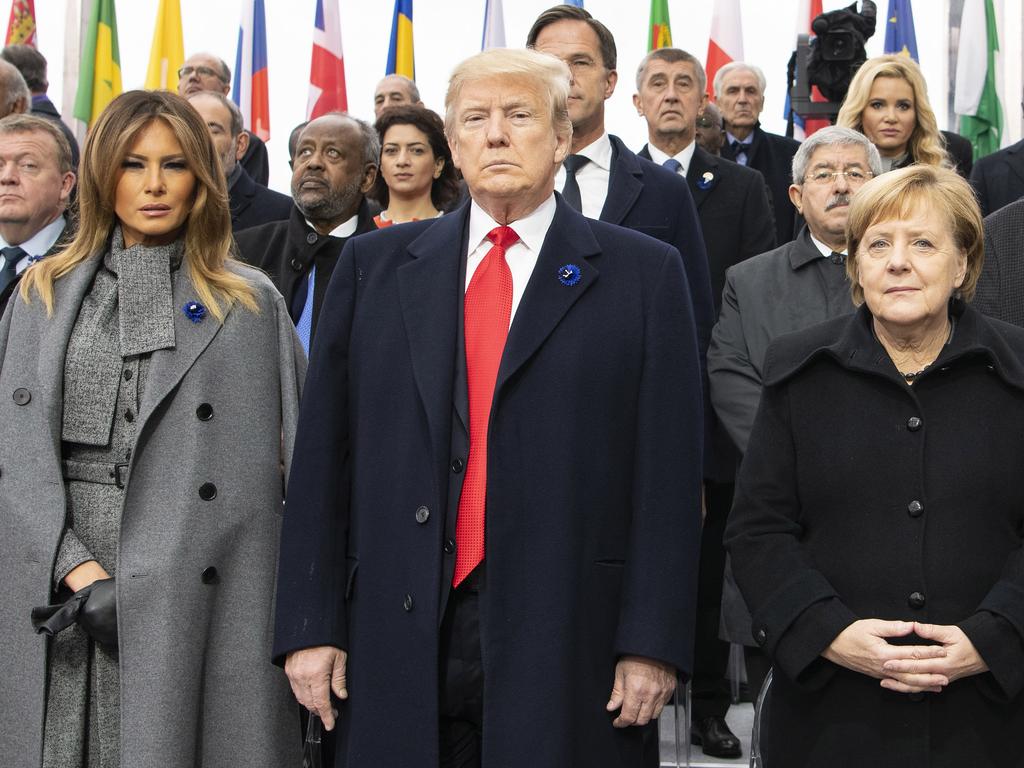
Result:
M890 54L864 61L853 76L836 125L864 132L862 116L870 100L868 96L871 93L871 86L878 78L900 78L905 80L913 91L913 109L918 120L907 142L910 160L914 163L949 168L951 163L949 156L946 155L945 142L939 133L935 112L928 101L928 86L921 74L921 68L908 56Z

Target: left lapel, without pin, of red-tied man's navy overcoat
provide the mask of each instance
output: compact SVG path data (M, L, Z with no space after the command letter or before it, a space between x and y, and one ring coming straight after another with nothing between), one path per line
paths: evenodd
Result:
M446 446L452 436L452 386L459 302L463 295L459 265L468 217L469 206L464 205L439 218L410 243L413 260L396 271L413 375L439 466L446 465Z

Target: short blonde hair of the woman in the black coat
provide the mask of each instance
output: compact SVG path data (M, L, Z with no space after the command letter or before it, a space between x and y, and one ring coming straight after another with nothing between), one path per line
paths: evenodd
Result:
M853 196L846 220L846 273L853 302L864 303L864 289L857 278L857 258L867 228L880 221L912 216L919 210L941 211L949 222L953 243L967 258L967 273L957 291L965 301L974 298L985 260L985 234L981 209L971 185L948 168L912 165L876 176Z

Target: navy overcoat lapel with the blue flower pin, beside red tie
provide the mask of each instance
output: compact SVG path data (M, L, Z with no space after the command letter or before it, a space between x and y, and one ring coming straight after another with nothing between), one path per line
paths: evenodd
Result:
M601 247L587 220L558 200L537 266L526 284L526 291L509 329L505 352L498 369L495 397L502 385L537 351L559 321L597 280L598 271L587 259L601 252ZM563 285L559 273L572 264L580 269L580 281Z

